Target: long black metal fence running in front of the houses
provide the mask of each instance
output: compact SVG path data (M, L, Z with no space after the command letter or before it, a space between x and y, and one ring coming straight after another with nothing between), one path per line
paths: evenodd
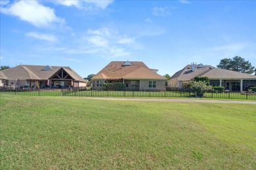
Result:
M165 92L148 91L114 91L114 90L91 90L88 88L66 88L66 89L1 89L0 93L12 95L31 96L81 96L81 97L196 97L196 93L178 88L167 89ZM248 99L256 100L256 93L248 92L209 92L204 94L205 98L213 99Z

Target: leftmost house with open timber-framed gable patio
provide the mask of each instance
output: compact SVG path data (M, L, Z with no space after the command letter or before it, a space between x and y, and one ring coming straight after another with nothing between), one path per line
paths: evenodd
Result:
M18 65L0 71L5 75L0 86L26 88L85 87L86 80L70 67L44 65Z

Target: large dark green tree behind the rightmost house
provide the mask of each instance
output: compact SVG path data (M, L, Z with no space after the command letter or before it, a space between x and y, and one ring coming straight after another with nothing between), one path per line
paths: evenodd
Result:
M217 67L221 69L228 69L232 71L238 71L240 73L251 74L254 71L254 68L249 61L245 61L244 58L240 56L235 56L234 58L224 58L221 59L221 62Z

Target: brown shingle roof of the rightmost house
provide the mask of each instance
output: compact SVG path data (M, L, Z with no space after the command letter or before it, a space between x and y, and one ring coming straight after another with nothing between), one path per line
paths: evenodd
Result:
M192 71L192 67L194 71ZM230 71L226 69L220 69L211 65L186 65L180 71L177 71L171 79L177 78L177 80L187 81L193 80L196 76L207 76L209 79L248 79L256 80L256 75L249 75L247 73L240 73L236 71ZM170 79L170 80L171 80Z

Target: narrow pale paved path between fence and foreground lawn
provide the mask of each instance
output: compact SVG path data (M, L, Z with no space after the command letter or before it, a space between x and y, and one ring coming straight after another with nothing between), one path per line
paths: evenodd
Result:
M256 101L236 101L236 100L207 100L207 99L143 99L143 98L111 98L111 97L85 97L85 99L97 99L97 100L114 100L114 101L165 101L165 102L187 102L187 103L234 103L234 104L253 104L256 105Z

